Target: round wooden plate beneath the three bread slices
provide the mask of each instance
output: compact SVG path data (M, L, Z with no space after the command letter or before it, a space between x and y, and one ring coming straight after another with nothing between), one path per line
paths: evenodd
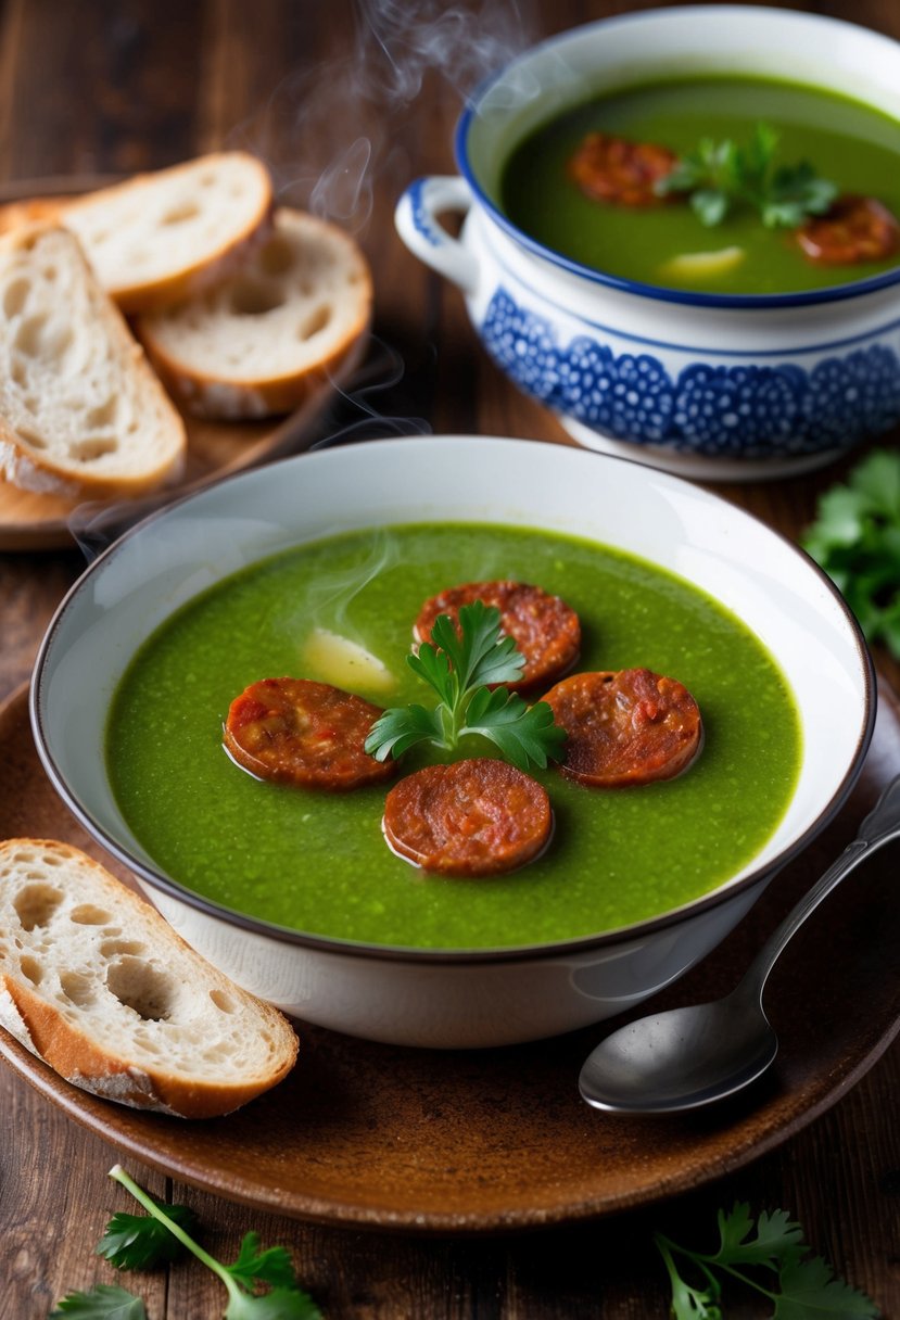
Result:
M71 197L104 187L116 180L77 176L16 181L0 187L0 203L36 197ZM181 480L143 499L79 502L61 495L18 490L0 477L0 550L38 550L70 545L73 537L90 537L92 529L117 521L135 523L168 500L186 495L218 477L240 471L296 451L317 417L334 396L335 384L346 384L364 351L364 341L337 374L325 381L288 417L264 421L203 421L182 412L187 429L187 461Z

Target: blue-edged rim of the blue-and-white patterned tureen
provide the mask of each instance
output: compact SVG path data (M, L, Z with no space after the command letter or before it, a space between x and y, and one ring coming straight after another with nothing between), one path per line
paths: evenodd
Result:
M693 15L709 18L710 13L721 13L723 16L755 15L756 21L760 21L761 17L775 22L779 22L785 17L788 21L802 18L810 25L837 29L834 32L835 40L839 38L842 30L846 32L847 29L851 29L856 33L864 33L872 40L884 42L888 46L896 48L897 62L900 65L900 44L895 42L884 33L876 32L874 28L864 28L862 24L850 22L846 18L833 18L827 15L810 13L802 9L780 9L773 5L676 5L665 9L655 8L641 9L635 13L612 15L606 18L596 18L591 22L582 24L577 28L567 28L565 32L554 33L552 37L546 37L536 45L529 46L528 50L524 50L521 54L503 65L501 69L498 69L495 73L483 79L467 99L466 108L457 120L454 132L454 156L457 166L484 213L499 230L512 239L517 247L524 248L530 255L565 271L567 275L586 280L589 284L596 284L607 289L616 289L620 293L631 293L636 297L651 298L657 302L719 309L805 308L818 306L825 302L841 302L847 298L859 298L864 294L878 293L882 289L889 289L899 285L900 263L889 271L882 271L879 275L872 275L863 280L850 281L847 284L835 284L826 289L805 289L796 293L703 293L691 289L668 289L664 285L649 284L643 280L628 280L623 276L610 275L608 272L599 271L595 267L585 265L583 263L575 261L573 257L567 257L562 252L557 252L554 248L540 243L525 230L521 230L517 224L515 224L482 187L468 160L468 135L472 124L478 120L479 106L486 94L498 82L505 78L512 69L517 65L528 62L538 53L552 51L556 46L567 44L577 40L579 36L594 32L599 28L608 32L611 28L631 26L635 24L653 21L664 16L686 18ZM814 83L802 83L801 86L823 90ZM860 102L860 104L870 106L870 103L864 100ZM876 107L872 106L871 108L875 110Z

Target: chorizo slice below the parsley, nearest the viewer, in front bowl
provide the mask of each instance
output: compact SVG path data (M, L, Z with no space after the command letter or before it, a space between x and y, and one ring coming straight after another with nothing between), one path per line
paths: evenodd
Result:
M384 837L395 853L443 875L524 866L549 840L552 824L541 785L490 756L408 775L384 804Z

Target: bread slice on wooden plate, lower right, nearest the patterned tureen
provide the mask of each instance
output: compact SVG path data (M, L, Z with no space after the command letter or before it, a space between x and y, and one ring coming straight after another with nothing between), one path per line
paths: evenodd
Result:
M274 232L230 280L137 318L169 392L199 417L292 412L364 348L372 280L343 230L282 207Z

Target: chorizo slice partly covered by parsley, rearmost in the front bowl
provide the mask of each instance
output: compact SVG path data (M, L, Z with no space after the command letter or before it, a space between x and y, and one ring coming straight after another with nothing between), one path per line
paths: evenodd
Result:
M529 692L561 677L578 659L581 622L558 595L549 595L528 582L465 582L426 601L418 611L413 636L430 642L432 628L441 614L459 627L459 610L483 601L500 611L500 628L513 639L525 657L516 682L504 684L511 692Z

